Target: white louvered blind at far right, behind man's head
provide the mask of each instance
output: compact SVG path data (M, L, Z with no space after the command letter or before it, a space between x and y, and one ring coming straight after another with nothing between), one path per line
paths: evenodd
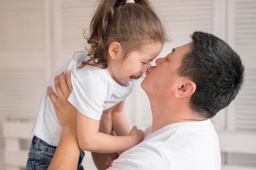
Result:
M246 67L245 83L236 98L234 129L256 132L256 0L236 0L234 8L234 45Z

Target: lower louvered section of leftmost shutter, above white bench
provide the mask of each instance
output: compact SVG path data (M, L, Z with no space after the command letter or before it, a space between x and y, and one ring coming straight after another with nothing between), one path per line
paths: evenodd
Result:
M0 113L8 118L35 119L45 87L40 69L0 69Z

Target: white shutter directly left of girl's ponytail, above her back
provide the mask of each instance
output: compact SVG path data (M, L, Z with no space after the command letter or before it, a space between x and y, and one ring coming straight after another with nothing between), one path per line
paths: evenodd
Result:
M72 59L76 51L85 49L86 39L83 37L83 30L90 27L95 2L95 0L54 1L54 70Z

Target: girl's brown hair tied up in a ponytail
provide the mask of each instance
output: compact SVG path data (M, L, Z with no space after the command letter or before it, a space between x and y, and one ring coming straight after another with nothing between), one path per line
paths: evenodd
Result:
M79 68L92 65L108 67L108 47L117 41L124 50L124 56L141 49L143 45L166 41L165 29L148 0L135 0L125 4L125 0L100 0L90 24L90 36L85 46L89 60L84 60Z

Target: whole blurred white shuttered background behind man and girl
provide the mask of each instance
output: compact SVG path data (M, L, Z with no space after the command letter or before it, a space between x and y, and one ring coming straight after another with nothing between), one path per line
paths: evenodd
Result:
M136 1L136 0L135 0ZM84 49L96 0L0 0L0 170L25 169L31 126L47 80ZM256 170L256 0L151 0L173 47L196 30L222 38L246 67L243 89L221 110L218 132L223 170ZM125 113L130 125L151 123L148 98L138 80ZM87 152L85 169L96 169Z

